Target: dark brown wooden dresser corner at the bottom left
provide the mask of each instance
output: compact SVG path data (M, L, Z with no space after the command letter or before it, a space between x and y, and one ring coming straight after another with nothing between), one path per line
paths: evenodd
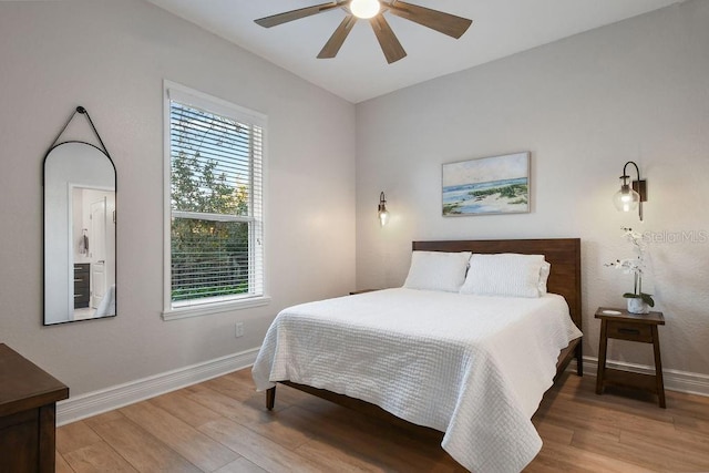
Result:
M54 471L56 401L69 388L0 343L0 473Z

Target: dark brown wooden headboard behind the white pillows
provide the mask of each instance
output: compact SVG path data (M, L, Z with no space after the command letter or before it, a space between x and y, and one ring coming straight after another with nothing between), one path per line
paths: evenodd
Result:
M413 241L414 250L521 253L544 255L552 270L547 281L549 292L564 296L576 327L582 328L580 310L580 238L480 239L449 241Z

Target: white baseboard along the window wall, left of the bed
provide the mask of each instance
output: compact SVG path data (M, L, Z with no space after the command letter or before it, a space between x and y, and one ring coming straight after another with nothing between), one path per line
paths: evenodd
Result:
M56 425L64 425L250 367L258 348L192 364L124 384L71 397L56 403Z

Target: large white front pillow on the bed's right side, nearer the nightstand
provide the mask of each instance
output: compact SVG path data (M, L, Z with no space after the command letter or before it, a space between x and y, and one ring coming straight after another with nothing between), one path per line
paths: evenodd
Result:
M540 297L543 255L474 254L461 294ZM546 286L546 285L545 285Z

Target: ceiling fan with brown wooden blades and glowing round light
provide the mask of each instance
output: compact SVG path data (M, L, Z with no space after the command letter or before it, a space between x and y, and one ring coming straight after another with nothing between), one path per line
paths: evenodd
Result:
M405 58L407 52L384 19L384 12L387 11L455 39L462 37L473 22L466 18L398 0L337 0L259 18L254 21L264 28L271 28L289 21L323 13L336 8L343 9L347 16L318 54L319 59L335 58L359 19L369 20L389 64Z

